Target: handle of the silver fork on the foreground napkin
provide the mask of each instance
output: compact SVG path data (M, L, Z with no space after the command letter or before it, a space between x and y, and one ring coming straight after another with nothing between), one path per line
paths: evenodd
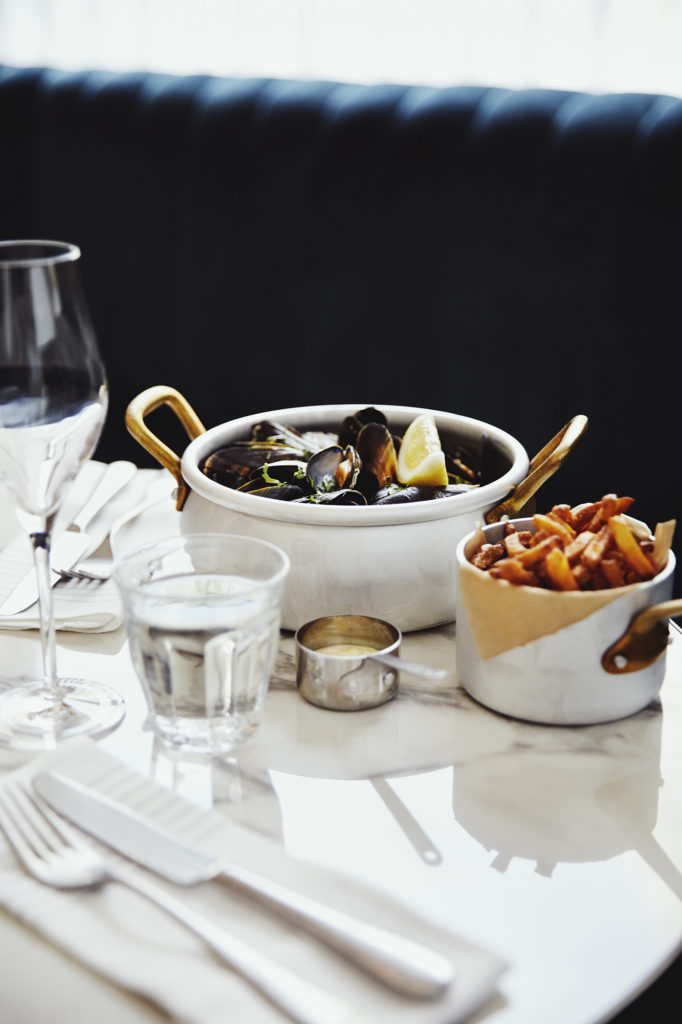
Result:
M111 862L106 866L110 879L166 910L297 1024L363 1024L357 1008L246 945L136 870Z

